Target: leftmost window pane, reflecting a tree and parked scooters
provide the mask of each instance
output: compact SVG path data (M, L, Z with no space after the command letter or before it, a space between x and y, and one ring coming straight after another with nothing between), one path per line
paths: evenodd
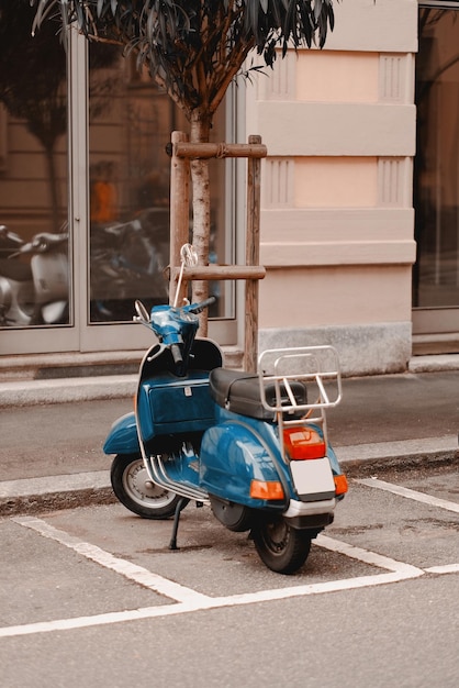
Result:
M67 60L34 12L1 7L0 328L69 323Z

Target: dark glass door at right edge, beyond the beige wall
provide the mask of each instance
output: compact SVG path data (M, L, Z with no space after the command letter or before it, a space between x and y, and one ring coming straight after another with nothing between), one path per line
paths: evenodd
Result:
M459 15L419 9L413 332L459 332ZM432 7L432 5L435 7Z

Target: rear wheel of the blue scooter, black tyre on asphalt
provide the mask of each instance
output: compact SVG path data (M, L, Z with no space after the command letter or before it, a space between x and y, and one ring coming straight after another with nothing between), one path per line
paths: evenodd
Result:
M251 536L261 562L277 574L296 572L311 550L311 533L292 528L282 517L259 517Z

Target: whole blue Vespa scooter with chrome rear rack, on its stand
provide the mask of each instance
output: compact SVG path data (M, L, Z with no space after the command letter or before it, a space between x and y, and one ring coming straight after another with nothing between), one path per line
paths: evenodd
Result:
M271 349L258 375L225 369L219 346L195 339L198 313L213 301L150 313L136 301L134 319L158 343L142 362L135 412L104 443L115 454L113 490L143 518L175 517L170 548L193 500L231 531L249 531L261 561L291 574L347 491L325 420L342 397L336 352Z

